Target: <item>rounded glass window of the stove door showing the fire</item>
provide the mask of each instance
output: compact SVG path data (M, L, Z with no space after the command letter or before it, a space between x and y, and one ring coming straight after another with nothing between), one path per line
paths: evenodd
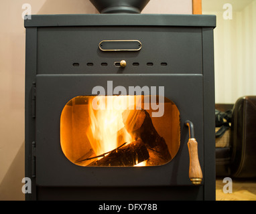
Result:
M60 144L82 167L164 165L180 147L180 113L161 96L77 96L62 110Z

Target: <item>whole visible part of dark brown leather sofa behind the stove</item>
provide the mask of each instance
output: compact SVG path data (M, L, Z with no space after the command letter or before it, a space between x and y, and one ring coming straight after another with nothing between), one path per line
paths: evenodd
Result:
M216 177L256 178L256 96L215 108L221 112L231 109L231 126L216 138Z

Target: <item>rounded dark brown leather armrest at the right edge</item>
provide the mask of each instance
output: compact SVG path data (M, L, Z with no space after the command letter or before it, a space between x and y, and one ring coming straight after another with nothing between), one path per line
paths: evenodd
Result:
M231 175L256 177L256 96L239 98L233 108Z

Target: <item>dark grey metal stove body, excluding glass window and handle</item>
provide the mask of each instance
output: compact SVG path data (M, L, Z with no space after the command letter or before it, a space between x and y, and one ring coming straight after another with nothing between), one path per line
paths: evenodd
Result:
M32 15L25 20L25 177L27 200L214 200L212 15ZM123 62L125 61L125 64ZM180 112L174 158L150 167L81 167L62 152L60 117L77 96L107 82L164 86ZM202 183L188 172L194 124ZM171 132L170 126L166 130Z

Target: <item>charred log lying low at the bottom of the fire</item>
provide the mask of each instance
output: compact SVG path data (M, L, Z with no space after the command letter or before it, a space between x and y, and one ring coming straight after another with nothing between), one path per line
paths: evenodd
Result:
M141 139L135 140L127 146L111 151L107 156L96 160L88 167L132 167L149 158L149 152Z

